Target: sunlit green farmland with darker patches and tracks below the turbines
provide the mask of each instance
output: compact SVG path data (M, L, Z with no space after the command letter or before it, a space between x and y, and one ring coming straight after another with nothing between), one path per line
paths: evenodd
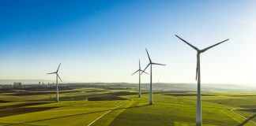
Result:
M195 125L195 92L154 91L153 98L149 106L147 91L137 98L134 90L89 87L60 91L60 102L55 91L2 92L0 125ZM256 94L202 92L201 98L203 125L255 125Z

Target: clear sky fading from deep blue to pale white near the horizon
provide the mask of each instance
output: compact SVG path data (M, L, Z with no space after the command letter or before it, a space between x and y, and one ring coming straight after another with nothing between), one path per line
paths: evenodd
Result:
M253 0L15 1L0 4L0 79L45 79L62 62L62 80L136 83L149 60L153 82L256 84L256 2ZM149 76L142 76L149 82Z

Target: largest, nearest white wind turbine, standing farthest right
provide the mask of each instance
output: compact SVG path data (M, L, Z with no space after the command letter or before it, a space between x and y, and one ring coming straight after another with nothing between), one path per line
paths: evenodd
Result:
M201 126L201 75L200 75L200 54L204 53L206 50L209 50L210 48L213 48L213 46L217 46L220 43L224 43L228 41L229 39L226 39L220 43L216 43L213 46L209 46L203 50L199 50L197 47L191 45L190 43L187 43L184 39L180 38L178 35L175 35L179 39L181 39L184 43L188 44L191 46L194 50L198 51L197 54L197 69L196 69L196 80L198 80L198 99L197 99L197 117L196 117L196 125Z

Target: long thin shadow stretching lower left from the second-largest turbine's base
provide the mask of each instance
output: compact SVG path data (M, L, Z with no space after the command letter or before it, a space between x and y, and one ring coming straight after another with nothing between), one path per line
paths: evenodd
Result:
M132 108L143 107L143 106L149 106L149 105L147 104L147 105L141 105L141 106L131 106L131 107L124 107L124 108L116 108L116 109L105 109L105 110L95 111L95 112L90 112L90 113L100 113L100 112L105 112L105 111L109 111L109 110L117 110L117 109L132 109ZM69 116L52 117L52 118L43 119L43 120L55 120L55 119L59 119L59 118L63 118L63 117L75 117L75 116L81 116L81 115L86 115L86 114L90 114L90 113L79 113L79 114L69 115ZM32 121L27 121L27 122L17 123L17 124L26 124L26 123L32 123L32 122L37 122L37 121L43 121L43 120L32 120ZM16 125L16 124L6 124L4 126L10 126L10 125Z

